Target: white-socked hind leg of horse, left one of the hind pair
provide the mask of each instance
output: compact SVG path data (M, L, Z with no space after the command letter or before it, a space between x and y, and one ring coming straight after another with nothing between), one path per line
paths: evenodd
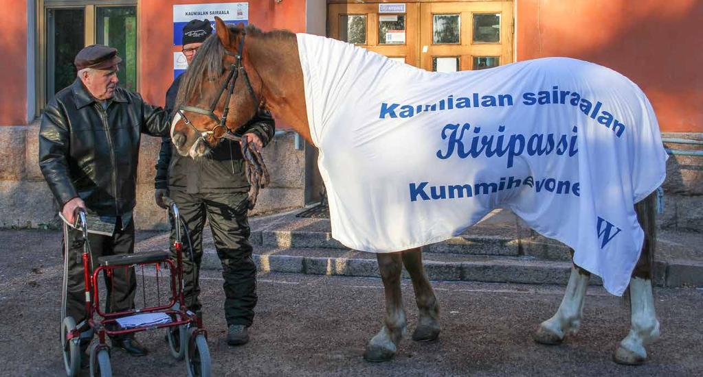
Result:
M567 291L557 313L539 325L533 338L537 343L560 344L567 334L576 334L583 316L583 301L591 273L573 265Z

